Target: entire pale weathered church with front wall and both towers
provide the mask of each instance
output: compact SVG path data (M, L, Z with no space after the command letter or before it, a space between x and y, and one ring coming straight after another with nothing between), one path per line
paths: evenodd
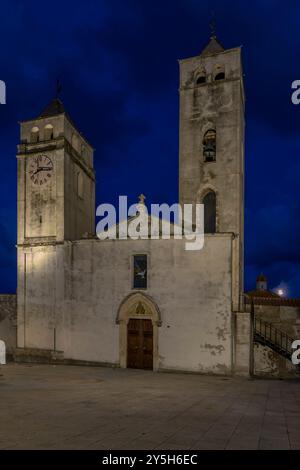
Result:
M93 148L60 100L21 123L17 353L116 367L248 374L243 311L240 48L180 61L180 203L203 203L203 249L99 240Z

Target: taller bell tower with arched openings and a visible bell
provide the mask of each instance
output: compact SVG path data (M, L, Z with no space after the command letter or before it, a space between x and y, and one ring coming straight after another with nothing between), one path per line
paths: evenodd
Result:
M180 203L203 203L205 232L232 233L235 298L243 291L244 85L241 48L213 33L180 60Z

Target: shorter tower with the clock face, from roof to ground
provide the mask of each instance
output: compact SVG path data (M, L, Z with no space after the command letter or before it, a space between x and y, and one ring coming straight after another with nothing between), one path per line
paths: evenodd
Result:
M65 255L95 230L93 148L55 98L21 122L17 159L17 345L62 351Z

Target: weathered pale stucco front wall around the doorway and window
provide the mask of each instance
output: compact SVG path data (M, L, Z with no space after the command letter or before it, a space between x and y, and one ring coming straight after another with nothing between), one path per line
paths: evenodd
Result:
M158 369L232 372L231 235L184 240L82 240L19 253L18 346L120 364L118 309L132 289L132 256L149 259L158 306ZM26 266L24 265L26 263ZM134 312L132 312L134 313Z

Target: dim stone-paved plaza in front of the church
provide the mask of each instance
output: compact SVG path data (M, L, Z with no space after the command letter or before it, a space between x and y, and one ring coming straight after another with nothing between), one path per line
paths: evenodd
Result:
M2 366L0 449L300 449L300 381Z

